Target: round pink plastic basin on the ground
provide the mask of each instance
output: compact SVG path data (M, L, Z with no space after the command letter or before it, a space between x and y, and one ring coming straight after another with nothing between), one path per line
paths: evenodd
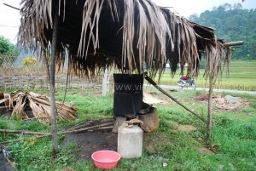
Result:
M96 151L91 158L97 168L108 169L117 166L121 155L116 151Z

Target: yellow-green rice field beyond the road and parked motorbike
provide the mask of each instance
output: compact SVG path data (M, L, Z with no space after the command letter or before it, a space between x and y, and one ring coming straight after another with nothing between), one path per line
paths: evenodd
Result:
M206 88L207 86L203 74L204 70L201 69L199 77L195 80L197 88ZM179 77L179 71L177 71L175 76L172 78L170 69L166 69L160 83L165 85L177 85ZM256 61L231 60L230 76L226 77L226 70L224 69L223 78L220 83L217 83L216 88L255 91Z

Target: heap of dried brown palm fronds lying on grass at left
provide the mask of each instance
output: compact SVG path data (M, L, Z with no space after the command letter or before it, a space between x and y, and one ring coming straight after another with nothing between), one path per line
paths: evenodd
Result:
M9 109L13 109L11 117L19 117L21 119L37 119L40 123L50 123L50 101L49 98L32 92L23 93L21 91L15 94L5 94L0 100ZM30 107L33 117L30 118L26 114L26 108ZM70 103L62 103L56 101L57 116L60 121L76 119L77 110Z

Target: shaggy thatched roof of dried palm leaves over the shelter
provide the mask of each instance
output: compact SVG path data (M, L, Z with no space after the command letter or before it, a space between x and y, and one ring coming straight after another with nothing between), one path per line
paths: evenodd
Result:
M20 44L43 55L49 54L53 16L59 14L57 59L61 64L68 54L77 74L113 64L123 72L142 73L143 63L161 72L167 61L172 71L188 63L189 74L196 74L201 50L208 54L208 71L218 71L227 48L212 28L150 0L23 0L20 11Z

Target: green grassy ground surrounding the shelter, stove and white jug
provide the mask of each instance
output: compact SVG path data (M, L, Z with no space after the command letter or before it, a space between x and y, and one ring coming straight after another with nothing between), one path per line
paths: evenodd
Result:
M214 107L212 128L212 151L214 155L202 154L198 149L206 146L206 125L188 111L166 99L157 91L150 90L165 105L154 105L158 109L160 128L152 134L144 134L143 157L121 159L113 170L256 170L256 97L248 94L232 94L249 100L249 105L240 111L220 111ZM44 92L44 91L43 91ZM99 92L73 90L67 93L67 101L73 101L79 109L79 119L58 123L59 130L67 125L86 119L99 119L113 116L113 95L102 97ZM42 92L41 92L42 93ZM57 100L62 100L63 91L57 91ZM200 91L171 93L190 109L207 117L207 104L195 101ZM100 105L101 104L101 105ZM102 105L104 104L104 105ZM193 125L196 130L190 133L177 131L178 125ZM24 123L17 118L0 119L0 128L25 129L49 132L50 126L36 121ZM0 134L0 141L21 139L26 135ZM148 137L146 139L146 137ZM51 140L31 139L9 144L13 151L17 170L97 170L92 162L77 162L73 152L75 144L62 146L57 160L51 157ZM154 142L152 144L152 142ZM151 143L151 144L150 144ZM149 145L150 144L150 145ZM163 163L167 166L163 167Z

